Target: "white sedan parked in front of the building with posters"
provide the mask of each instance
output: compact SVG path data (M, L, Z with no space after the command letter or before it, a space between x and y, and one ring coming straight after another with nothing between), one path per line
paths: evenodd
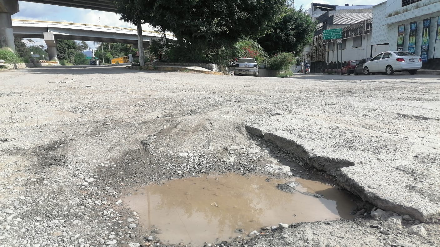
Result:
M407 71L411 75L422 68L422 58L409 51L385 51L377 54L363 65L363 74L382 73L393 75L397 71Z

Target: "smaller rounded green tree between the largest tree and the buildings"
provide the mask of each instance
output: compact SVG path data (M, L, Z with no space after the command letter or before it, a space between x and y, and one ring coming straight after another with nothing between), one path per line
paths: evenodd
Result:
M271 33L257 40L264 50L270 54L291 52L298 56L311 42L316 26L302 8L295 10L290 7L272 29Z

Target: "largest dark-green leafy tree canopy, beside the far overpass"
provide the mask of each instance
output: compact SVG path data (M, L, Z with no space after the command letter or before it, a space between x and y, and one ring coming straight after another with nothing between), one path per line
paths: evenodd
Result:
M259 37L281 18L286 0L115 0L121 20L149 23L177 38L189 59L232 46L241 37Z

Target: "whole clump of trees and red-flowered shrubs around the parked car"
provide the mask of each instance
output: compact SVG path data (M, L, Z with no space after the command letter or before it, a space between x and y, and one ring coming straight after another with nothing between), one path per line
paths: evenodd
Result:
M184 6L176 0L114 3L121 20L149 23L159 32L176 36L177 40L152 41L147 61L214 63L227 70L235 58L254 58L259 65L290 68L300 61L295 58L315 30L304 9L286 0L199 0Z

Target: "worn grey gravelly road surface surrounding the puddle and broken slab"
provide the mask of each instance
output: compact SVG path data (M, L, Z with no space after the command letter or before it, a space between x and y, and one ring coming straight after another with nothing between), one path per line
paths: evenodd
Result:
M414 129L411 134L434 140L438 129L429 126L436 124L412 126L406 119L438 123L439 98L440 77L428 75L253 78L122 67L0 72L0 247L179 244L159 240L154 227L139 223L143 216L123 201L129 190L227 172L290 178L269 175L267 164L337 183L250 135L244 123L346 113L352 125L394 118L393 124ZM387 105L406 105L405 112L389 114ZM437 217L420 223L353 200L352 220L292 224L209 246L440 246Z

